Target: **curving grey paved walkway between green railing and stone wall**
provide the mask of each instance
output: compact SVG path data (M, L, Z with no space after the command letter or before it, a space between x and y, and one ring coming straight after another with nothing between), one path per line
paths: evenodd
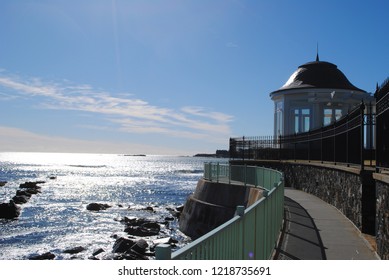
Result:
M377 260L360 231L335 207L285 189L285 227L275 259Z

